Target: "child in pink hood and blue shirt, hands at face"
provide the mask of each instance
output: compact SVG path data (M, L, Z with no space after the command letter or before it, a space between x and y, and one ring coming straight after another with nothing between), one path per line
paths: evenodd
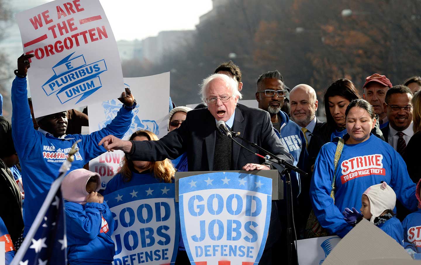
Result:
M70 265L110 265L114 260L114 219L98 193L100 187L99 174L83 168L70 172L61 183Z

